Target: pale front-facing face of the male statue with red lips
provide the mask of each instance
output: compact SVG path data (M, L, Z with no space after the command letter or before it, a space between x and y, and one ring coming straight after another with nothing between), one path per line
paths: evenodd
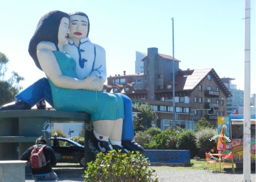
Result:
M69 38L83 39L88 33L88 19L81 15L72 15L69 17Z

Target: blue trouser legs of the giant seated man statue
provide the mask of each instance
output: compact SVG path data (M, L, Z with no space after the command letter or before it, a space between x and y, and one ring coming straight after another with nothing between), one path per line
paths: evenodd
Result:
M120 94L124 102L124 121L122 140L130 140L134 138L133 123L132 123L132 101L131 99ZM41 78L31 86L15 95L15 100L21 100L33 107L40 100L44 99L52 107L54 107L52 100L52 91L47 78Z

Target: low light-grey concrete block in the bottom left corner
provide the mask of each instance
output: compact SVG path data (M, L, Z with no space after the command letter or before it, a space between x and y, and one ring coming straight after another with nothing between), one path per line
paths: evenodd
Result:
M0 161L0 182L25 182L27 161Z

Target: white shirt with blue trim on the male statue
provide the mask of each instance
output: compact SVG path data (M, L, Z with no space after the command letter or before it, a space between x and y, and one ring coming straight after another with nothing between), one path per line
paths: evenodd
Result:
M106 53L103 47L91 43L87 37L80 40L78 47L72 39L68 39L63 49L76 61L78 79L96 75L102 76L106 81Z

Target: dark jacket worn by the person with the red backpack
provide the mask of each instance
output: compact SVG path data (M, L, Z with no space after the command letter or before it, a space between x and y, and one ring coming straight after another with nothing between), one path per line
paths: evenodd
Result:
M43 145L44 143L42 142L38 142L37 145ZM29 161L30 159L30 155L31 155L31 151L34 149L34 147L29 147L29 149L27 149L27 151L25 151L25 153L23 153L20 156L20 160L21 161ZM49 161L49 163L47 163L47 165L44 167L44 169L40 169L40 170L33 170L32 169L32 174L45 174L45 173L50 173L52 172L52 165L56 165L57 164L57 160L54 154L54 151L52 149L52 147L46 146L44 148L44 155L45 155L45 159L46 161Z

